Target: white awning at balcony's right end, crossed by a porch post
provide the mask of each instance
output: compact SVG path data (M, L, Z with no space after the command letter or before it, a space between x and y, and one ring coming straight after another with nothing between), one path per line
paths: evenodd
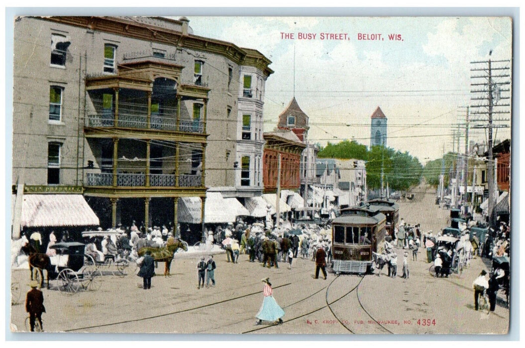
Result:
M179 200L177 219L178 222L199 224L201 223L202 201L199 197L182 197ZM248 211L235 198L223 198L220 192L206 192L204 206L204 223L235 222L239 215L249 215Z

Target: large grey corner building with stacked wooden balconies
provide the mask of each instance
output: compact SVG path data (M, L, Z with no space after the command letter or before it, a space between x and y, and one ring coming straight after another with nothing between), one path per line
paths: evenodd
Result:
M15 208L22 194L83 194L102 227L148 227L176 225L187 197L204 221L208 188L262 193L271 62L188 22L16 18Z

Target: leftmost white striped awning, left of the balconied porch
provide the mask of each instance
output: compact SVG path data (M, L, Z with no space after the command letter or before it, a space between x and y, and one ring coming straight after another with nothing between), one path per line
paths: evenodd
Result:
M98 216L81 194L24 194L23 199L22 227L100 224Z

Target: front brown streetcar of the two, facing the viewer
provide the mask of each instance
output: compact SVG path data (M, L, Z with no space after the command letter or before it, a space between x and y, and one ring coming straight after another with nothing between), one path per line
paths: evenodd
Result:
M341 215L332 221L334 273L369 273L372 253L383 252L385 227L386 216L377 206L341 210Z

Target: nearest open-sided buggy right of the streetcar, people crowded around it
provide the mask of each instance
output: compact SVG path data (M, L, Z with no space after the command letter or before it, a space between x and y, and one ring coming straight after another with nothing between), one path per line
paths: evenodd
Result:
M459 277L463 273L463 259L461 259L463 253L463 245L460 240L456 237L443 235L437 238L437 251L443 262L439 274L436 274L435 266L430 266L430 274L437 277L447 277L450 274L457 274ZM437 257L436 254L436 257Z

